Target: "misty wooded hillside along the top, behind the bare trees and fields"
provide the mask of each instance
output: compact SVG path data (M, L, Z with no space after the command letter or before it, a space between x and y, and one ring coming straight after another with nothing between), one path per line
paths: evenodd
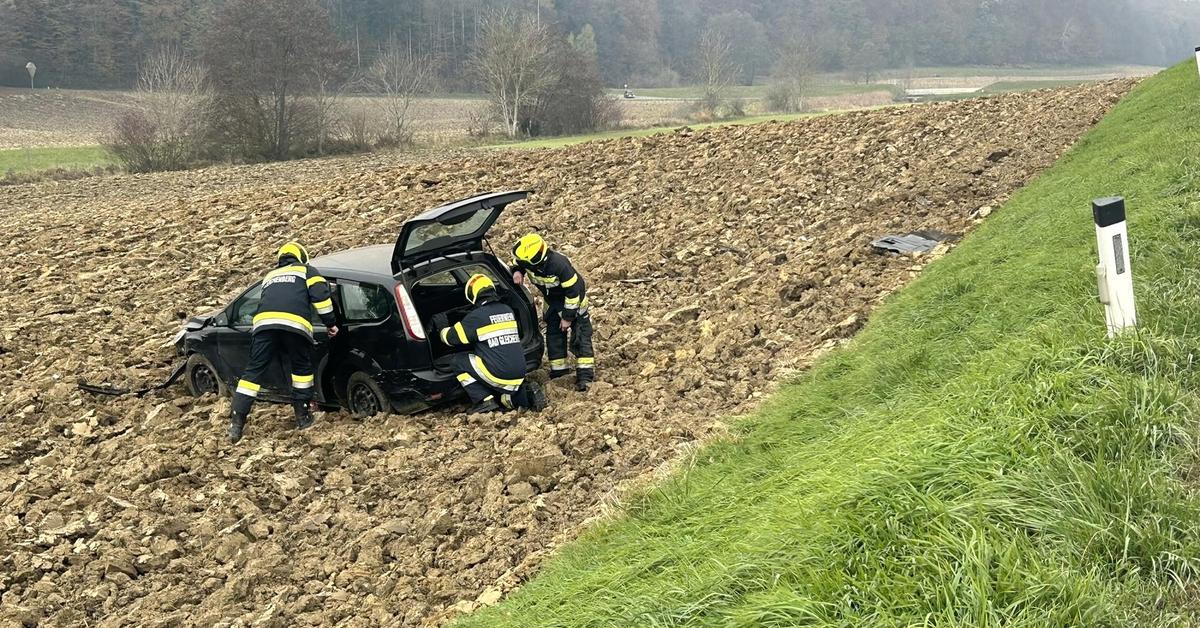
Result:
M233 0L0 0L0 84L131 88L166 47L198 56ZM278 0L259 0L264 10ZM1200 43L1188 0L322 0L348 71L366 74L397 47L436 61L444 90L478 89L486 18L529 14L583 37L610 85L696 83L704 42L728 42L732 79L772 72L804 42L820 71L869 78L906 66L1166 65ZM704 35L708 34L706 38ZM703 65L703 64L700 64Z

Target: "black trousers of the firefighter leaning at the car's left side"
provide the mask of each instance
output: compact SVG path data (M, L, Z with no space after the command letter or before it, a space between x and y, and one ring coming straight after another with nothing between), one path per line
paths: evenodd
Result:
M278 329L262 330L250 341L250 364L246 375L238 382L233 395L233 413L246 417L258 397L258 390L266 379L266 372L276 359L292 371L292 397L305 403L313 394L312 340Z

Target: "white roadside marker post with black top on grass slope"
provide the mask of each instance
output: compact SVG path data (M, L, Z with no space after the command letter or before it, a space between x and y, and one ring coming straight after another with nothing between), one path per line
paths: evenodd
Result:
M1124 198L1114 196L1092 201L1096 220L1096 282L1104 304L1109 337L1138 325L1133 297L1133 269L1129 267L1129 232L1126 227Z

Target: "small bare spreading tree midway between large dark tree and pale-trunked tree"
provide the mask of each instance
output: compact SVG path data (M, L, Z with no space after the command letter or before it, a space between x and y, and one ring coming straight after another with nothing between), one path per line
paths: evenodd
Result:
M386 128L384 139L395 144L412 140L413 100L428 91L434 70L432 58L410 52L395 37L367 70L368 86L383 96L379 102Z

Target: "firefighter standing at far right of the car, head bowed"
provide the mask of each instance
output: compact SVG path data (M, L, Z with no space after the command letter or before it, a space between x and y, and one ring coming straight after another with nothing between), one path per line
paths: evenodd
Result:
M571 331L575 353L575 389L586 393L595 381L595 354L592 352L592 315L588 288L571 261L546 246L536 233L521 238L512 247L512 281L521 285L527 277L546 298L546 354L550 377L570 375L566 363L566 333Z

